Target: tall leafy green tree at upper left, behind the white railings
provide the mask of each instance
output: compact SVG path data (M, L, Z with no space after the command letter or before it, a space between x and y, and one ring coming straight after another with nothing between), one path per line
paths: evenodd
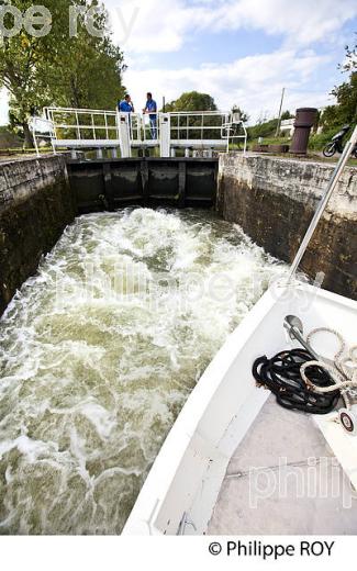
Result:
M12 5L24 13L33 2L14 0ZM10 93L10 125L23 130L29 146L29 120L43 107L114 107L123 92L123 56L112 44L104 8L97 0L41 0L41 5L52 14L49 33L35 37L22 26L12 37L2 37L0 45L0 87ZM94 22L102 37L88 33L85 16L78 18L77 36L69 37L74 5L98 8ZM4 18L7 29L13 25L11 18Z

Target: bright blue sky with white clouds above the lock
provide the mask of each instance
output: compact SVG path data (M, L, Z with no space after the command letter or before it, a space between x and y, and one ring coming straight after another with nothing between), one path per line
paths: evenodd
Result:
M37 2L41 3L41 2ZM285 109L323 107L343 80L336 69L357 32L356 0L105 0L113 38L129 66L137 109L153 91L161 104L182 91L237 104L252 120ZM1 122L5 94L1 94Z

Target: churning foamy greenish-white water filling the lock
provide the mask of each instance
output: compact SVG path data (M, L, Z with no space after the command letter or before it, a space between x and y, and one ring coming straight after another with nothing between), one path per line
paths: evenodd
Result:
M204 212L68 227L0 321L0 533L120 533L190 391L282 270Z

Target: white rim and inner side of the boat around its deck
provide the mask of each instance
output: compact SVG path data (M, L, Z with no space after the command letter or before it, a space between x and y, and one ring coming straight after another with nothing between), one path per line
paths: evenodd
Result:
M253 362L291 348L282 326L289 314L299 316L306 332L333 327L354 344L356 302L306 284L268 290L192 391L154 462L124 535L176 535L183 518L186 535L205 533L232 454L270 395L256 387ZM357 437L345 435L335 416L316 417L316 422L350 475L357 467ZM354 457L347 459L352 449Z

